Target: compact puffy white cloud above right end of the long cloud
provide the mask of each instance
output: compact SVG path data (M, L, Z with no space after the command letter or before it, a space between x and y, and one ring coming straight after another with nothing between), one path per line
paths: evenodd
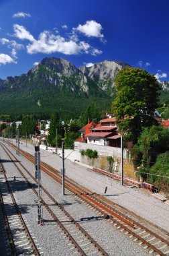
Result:
M79 24L75 30L80 31L85 34L85 36L94 36L97 38L103 38L103 34L101 34L102 30L101 24L95 22L95 20L88 20L84 25Z

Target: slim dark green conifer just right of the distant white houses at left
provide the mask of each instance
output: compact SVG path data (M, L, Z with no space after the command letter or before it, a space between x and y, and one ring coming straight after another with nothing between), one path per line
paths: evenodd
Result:
M54 143L56 142L56 129L58 129L58 126L60 123L59 121L60 121L59 114L55 111L51 117L49 133L48 133L48 143L50 143L50 145L52 146L54 146Z

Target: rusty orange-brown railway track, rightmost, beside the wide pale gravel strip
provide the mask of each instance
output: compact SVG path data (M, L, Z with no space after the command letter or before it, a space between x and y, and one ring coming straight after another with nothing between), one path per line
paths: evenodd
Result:
M34 157L21 150L25 158L34 162ZM58 183L62 183L60 172L52 166L42 162L41 169ZM89 205L91 209L100 212L108 221L116 226L121 232L128 234L130 238L137 241L144 248L149 248L152 255L169 255L169 233L166 230L144 220L133 212L121 207L117 203L105 199L86 189L68 177L65 177L65 187L76 197Z

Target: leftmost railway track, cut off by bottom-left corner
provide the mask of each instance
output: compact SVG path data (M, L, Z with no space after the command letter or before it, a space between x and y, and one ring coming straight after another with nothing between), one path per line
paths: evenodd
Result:
M40 251L34 243L27 224L19 211L1 163L0 169L0 201L5 230L7 230L9 245L11 247L11 255L40 255Z

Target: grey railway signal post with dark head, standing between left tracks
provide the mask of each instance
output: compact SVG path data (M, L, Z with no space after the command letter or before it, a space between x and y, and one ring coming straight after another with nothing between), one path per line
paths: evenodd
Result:
M35 166L36 166L36 171L35 171L35 177L36 179L38 178L38 224L43 225L44 220L43 220L43 210L42 210L42 203L41 203L41 198L42 198L42 187L41 187L41 172L40 172L40 147L35 146Z

